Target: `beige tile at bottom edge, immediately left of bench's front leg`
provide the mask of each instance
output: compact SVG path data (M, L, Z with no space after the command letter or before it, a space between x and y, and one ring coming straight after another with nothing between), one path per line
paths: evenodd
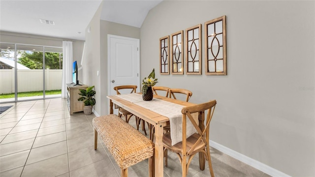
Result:
M70 171L70 177L119 177L109 159L103 159L93 164ZM120 173L120 172L119 172Z

